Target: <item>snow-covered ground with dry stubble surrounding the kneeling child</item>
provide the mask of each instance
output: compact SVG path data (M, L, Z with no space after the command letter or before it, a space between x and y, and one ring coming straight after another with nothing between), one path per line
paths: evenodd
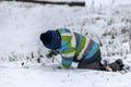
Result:
M75 64L75 70L56 69L39 41L43 32L67 27L100 41L103 60L131 65L131 1L103 2L87 0L83 8L0 2L0 87L130 87L130 72L78 70Z

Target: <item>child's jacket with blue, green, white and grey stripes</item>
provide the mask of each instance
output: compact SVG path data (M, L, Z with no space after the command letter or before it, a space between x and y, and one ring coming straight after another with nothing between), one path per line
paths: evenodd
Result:
M71 33L67 28L57 30L61 36L61 48L58 51L62 57L63 67L70 67L74 60L91 59L99 49L99 44L83 35Z

